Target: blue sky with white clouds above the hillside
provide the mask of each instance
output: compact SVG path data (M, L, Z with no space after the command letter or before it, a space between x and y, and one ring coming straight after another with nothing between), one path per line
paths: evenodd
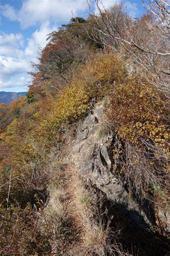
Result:
M116 0L103 0L105 7ZM46 35L74 16L88 16L86 0L0 0L0 91L27 91L37 62L38 47L47 44ZM94 12L95 3L91 2ZM124 1L129 14L140 17L141 0Z

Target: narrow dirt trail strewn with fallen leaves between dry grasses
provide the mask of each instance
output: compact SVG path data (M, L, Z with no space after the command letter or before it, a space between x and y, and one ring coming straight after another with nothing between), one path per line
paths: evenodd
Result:
M71 161L72 158L72 145L65 145L63 148L64 157L63 160L66 162L65 166L65 190L67 192L67 200L65 206L69 211L71 219L71 233L74 238L65 248L64 256L86 256L90 255L84 248L83 237L84 228L79 209L77 207L77 193L80 188L77 188L79 183L79 176L77 174L77 167Z

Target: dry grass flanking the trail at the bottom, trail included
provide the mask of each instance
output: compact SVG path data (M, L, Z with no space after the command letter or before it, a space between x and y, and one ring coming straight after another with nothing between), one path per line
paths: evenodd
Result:
M102 194L86 188L74 168L66 168L57 157L49 164L46 175L50 181L47 186L48 202L44 203L37 196L36 205L29 208L32 212L29 216L34 215L29 233L25 230L20 248L10 247L7 250L8 244L5 243L3 248L7 252L37 253L39 250L44 254L59 255L61 251L68 251L72 243L76 250L80 247L86 255L128 255L117 242L117 232L111 228L107 210L102 209ZM25 221L21 221L16 218L18 228L25 225ZM16 231L15 227L15 233L23 235L24 231ZM35 249L29 244L28 235L36 241ZM6 238L9 236L10 230ZM12 242L15 244L15 237Z

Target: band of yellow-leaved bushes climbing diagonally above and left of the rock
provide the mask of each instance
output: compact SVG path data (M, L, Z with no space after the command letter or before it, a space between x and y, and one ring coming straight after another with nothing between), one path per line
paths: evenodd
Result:
M79 69L79 77L75 74L73 80L53 98L47 113L37 109L37 103L33 103L20 118L8 126L4 139L6 144L12 145L10 156L13 156L14 169L22 170L24 162L24 168L31 172L30 162L40 160L44 164L45 152L52 145L56 146L61 142L66 130L86 116L91 102L108 90L105 91L105 86L111 86L113 81L125 78L124 73L121 73L122 69L125 70L123 64L115 55L96 54L93 58ZM96 72L98 64L104 69ZM100 73L103 77L102 87ZM111 76L112 80L109 78Z

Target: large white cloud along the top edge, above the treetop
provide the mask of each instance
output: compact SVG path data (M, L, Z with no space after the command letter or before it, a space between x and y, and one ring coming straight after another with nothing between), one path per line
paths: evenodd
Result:
M1 5L2 14L11 21L19 21L22 28L46 21L65 22L74 15L86 11L86 0L25 0L20 10Z

